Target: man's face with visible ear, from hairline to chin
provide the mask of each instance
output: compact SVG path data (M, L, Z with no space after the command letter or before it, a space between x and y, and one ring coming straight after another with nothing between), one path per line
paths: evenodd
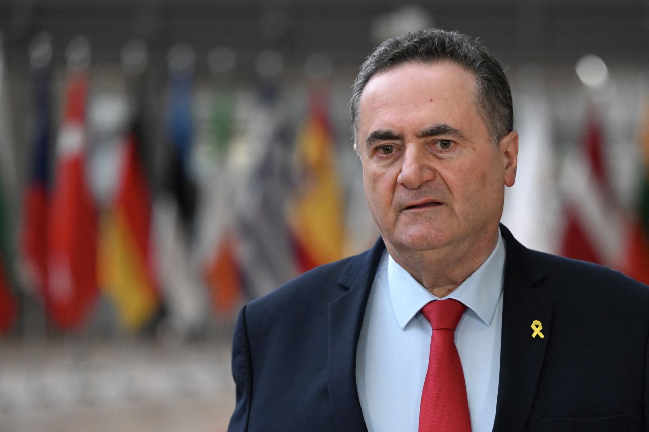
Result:
M365 198L389 250L495 241L518 138L493 143L473 91L473 75L449 62L408 63L367 82L357 145Z

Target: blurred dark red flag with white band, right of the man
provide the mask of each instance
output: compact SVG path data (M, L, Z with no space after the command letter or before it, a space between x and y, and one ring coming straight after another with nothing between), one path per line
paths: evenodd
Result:
M591 112L581 146L564 160L560 186L565 219L559 253L613 266L623 221L607 174L603 135L600 119Z

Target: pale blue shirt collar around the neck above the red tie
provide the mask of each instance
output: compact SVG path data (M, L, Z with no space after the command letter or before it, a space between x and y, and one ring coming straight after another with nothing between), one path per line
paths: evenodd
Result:
M382 260L384 261L384 260ZM384 262L380 267L384 267ZM392 309L401 330L404 330L422 307L439 300L388 254L387 285ZM496 312L503 287L505 243L502 235L489 257L464 282L445 298L465 304L485 325L489 326Z

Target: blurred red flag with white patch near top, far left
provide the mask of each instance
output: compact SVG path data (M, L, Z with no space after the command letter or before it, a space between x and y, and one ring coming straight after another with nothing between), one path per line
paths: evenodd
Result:
M79 328L97 300L97 213L86 178L88 77L70 71L56 144L47 236L46 305L62 330Z

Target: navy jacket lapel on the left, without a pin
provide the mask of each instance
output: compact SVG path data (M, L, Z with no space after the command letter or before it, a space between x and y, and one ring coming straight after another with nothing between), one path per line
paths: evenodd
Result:
M344 293L329 303L327 385L338 432L366 430L356 387L356 347L384 247L378 239L349 263L338 280Z

